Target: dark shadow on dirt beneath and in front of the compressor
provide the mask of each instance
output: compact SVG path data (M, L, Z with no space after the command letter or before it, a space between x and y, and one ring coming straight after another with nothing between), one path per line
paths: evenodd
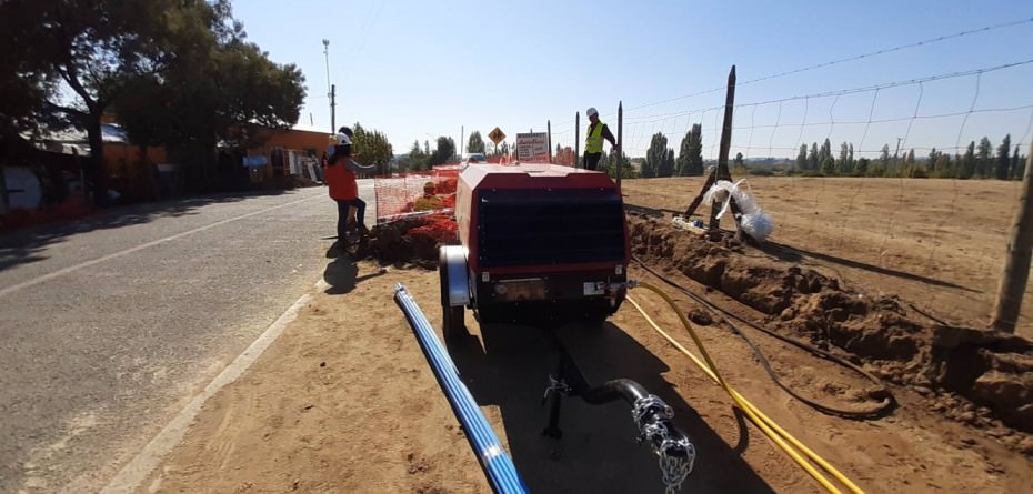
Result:
M748 447L741 425L736 451L699 416L668 383L669 369L620 327L580 325L558 330L559 340L589 385L626 377L661 396L674 409L674 423L695 444L695 468L681 492L773 492L739 452ZM483 349L482 350L482 343ZM471 393L482 406L497 406L516 468L531 492L663 492L656 457L635 441L638 430L624 402L589 405L578 397L562 402L562 440L541 435L549 411L541 406L559 350L544 330L485 325L449 351Z

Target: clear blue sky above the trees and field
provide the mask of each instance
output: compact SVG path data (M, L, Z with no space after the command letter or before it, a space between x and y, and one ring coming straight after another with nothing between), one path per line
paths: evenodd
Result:
M1025 1L391 1L238 0L249 38L304 72L299 125L330 129L322 39L338 125L384 132L395 152L438 135L459 141L500 127L543 131L573 145L574 112L599 108L624 149L643 155L650 137L676 149L703 125L704 157L716 155L729 69L736 65L732 154L795 155L801 142L851 141L873 155L953 149L1005 133L1024 149L1033 122L1033 2ZM974 32L765 81L745 81L961 31ZM867 90L1027 62L981 74ZM809 97L810 95L810 97ZM801 99L773 102L793 97ZM678 99L675 99L678 98ZM660 104L660 101L672 100ZM769 102L766 104L753 104ZM975 110L970 113L969 110ZM1013 109L1009 111L999 111ZM960 113L954 117L937 117ZM871 117L870 117L871 115ZM913 118L919 115L917 119ZM869 121L872 123L867 123ZM583 139L582 130L582 139Z

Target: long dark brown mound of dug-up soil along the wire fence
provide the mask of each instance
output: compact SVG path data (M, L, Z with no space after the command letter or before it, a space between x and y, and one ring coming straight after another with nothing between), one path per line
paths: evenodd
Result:
M629 222L639 259L678 270L766 314L769 327L839 349L890 382L916 386L952 419L981 426L996 417L1033 432L1033 342L931 324L899 299L871 296L811 269L746 255L751 248L726 238L708 240L662 220ZM1033 454L1029 437L1015 445Z

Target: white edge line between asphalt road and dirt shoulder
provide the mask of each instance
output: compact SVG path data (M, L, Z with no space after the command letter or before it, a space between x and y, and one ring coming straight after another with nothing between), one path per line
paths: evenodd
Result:
M201 407L204 406L204 402L211 399L227 384L237 381L243 375L248 367L261 356L262 352L280 336L283 329L298 316L298 311L304 304L309 303L310 300L312 300L311 295L302 295L288 308L288 310L280 315L258 340L251 343L251 346L248 346L248 349L238 355L230 365L223 369L222 372L204 387L201 394L194 396L193 400L191 400L190 403L143 447L143 451L127 463L114 478L108 483L108 486L100 491L100 494L129 494L136 492L151 472L154 471L158 464L161 463L164 456L183 440L190 424L193 423L194 419L197 419L198 414L201 412Z

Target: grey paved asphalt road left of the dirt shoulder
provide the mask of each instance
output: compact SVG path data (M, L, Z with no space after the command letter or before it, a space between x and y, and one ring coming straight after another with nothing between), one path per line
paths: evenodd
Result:
M313 188L0 236L0 493L103 487L313 289L335 218Z

